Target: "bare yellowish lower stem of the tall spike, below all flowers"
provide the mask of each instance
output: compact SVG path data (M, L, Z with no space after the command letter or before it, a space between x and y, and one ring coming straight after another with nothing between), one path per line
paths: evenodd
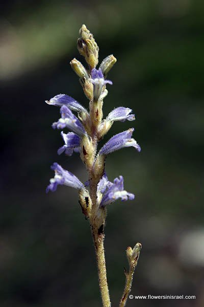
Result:
M101 229L100 231L103 231L103 229ZM105 235L104 233L100 233L100 231L94 226L92 226L92 236L96 253L100 294L103 301L103 307L110 307L111 301L109 296L109 289L108 289L108 282L106 275L106 260L105 260L105 251L104 251Z

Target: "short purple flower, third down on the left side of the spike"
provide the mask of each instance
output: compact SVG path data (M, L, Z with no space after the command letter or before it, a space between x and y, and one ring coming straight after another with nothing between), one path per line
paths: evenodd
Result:
M73 132L69 132L67 134L61 131L61 136L65 142L65 145L58 149L58 155L61 155L62 152L65 151L65 155L71 156L73 151L80 152L80 137Z

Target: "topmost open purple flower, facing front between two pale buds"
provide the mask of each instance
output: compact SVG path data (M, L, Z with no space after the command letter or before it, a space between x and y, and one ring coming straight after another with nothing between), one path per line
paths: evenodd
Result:
M99 68L99 70L97 70L95 68L92 69L90 81L91 81L91 83L93 83L94 100L98 100L98 98L99 98L99 96L102 92L103 86L105 84L107 84L107 83L113 84L112 81L104 79L104 75L103 75L100 68Z

